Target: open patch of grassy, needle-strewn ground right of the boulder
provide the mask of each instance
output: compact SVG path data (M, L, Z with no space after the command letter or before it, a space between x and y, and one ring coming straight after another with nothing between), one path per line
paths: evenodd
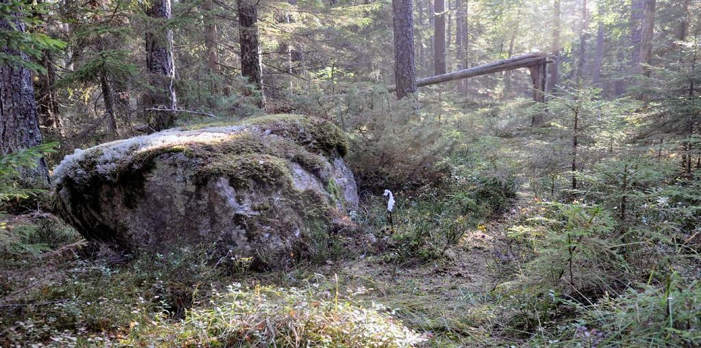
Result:
M527 185L526 185L527 186ZM435 347L494 346L513 342L498 330L505 308L494 289L505 281L514 261L507 229L522 208L533 203L528 187L512 205L479 227L469 229L444 257L421 265L377 262L357 257L325 265L315 272L343 288L363 288L356 300L383 304L404 324L433 340Z

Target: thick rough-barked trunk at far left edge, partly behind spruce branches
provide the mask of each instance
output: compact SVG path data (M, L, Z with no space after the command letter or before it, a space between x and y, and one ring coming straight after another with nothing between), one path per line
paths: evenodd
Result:
M8 2L1 0L1 4ZM0 18L0 30L25 32L25 24L14 20L11 25ZM29 61L25 53L6 46L1 52ZM41 141L32 74L27 67L20 65L0 65L0 155L41 145ZM46 187L48 170L43 158L37 161L35 168L25 169L22 177L27 185Z

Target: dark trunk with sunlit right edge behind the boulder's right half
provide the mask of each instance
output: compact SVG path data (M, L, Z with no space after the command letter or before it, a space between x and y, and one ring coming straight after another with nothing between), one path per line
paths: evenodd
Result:
M258 1L238 0L238 41L241 46L241 75L261 92L259 107L265 108L263 67L258 42Z

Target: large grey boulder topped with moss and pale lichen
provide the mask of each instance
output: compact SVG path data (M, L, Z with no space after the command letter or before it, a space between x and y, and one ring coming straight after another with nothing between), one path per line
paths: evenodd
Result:
M205 245L279 267L357 208L347 147L332 123L299 115L118 140L55 168L57 210L127 250Z

